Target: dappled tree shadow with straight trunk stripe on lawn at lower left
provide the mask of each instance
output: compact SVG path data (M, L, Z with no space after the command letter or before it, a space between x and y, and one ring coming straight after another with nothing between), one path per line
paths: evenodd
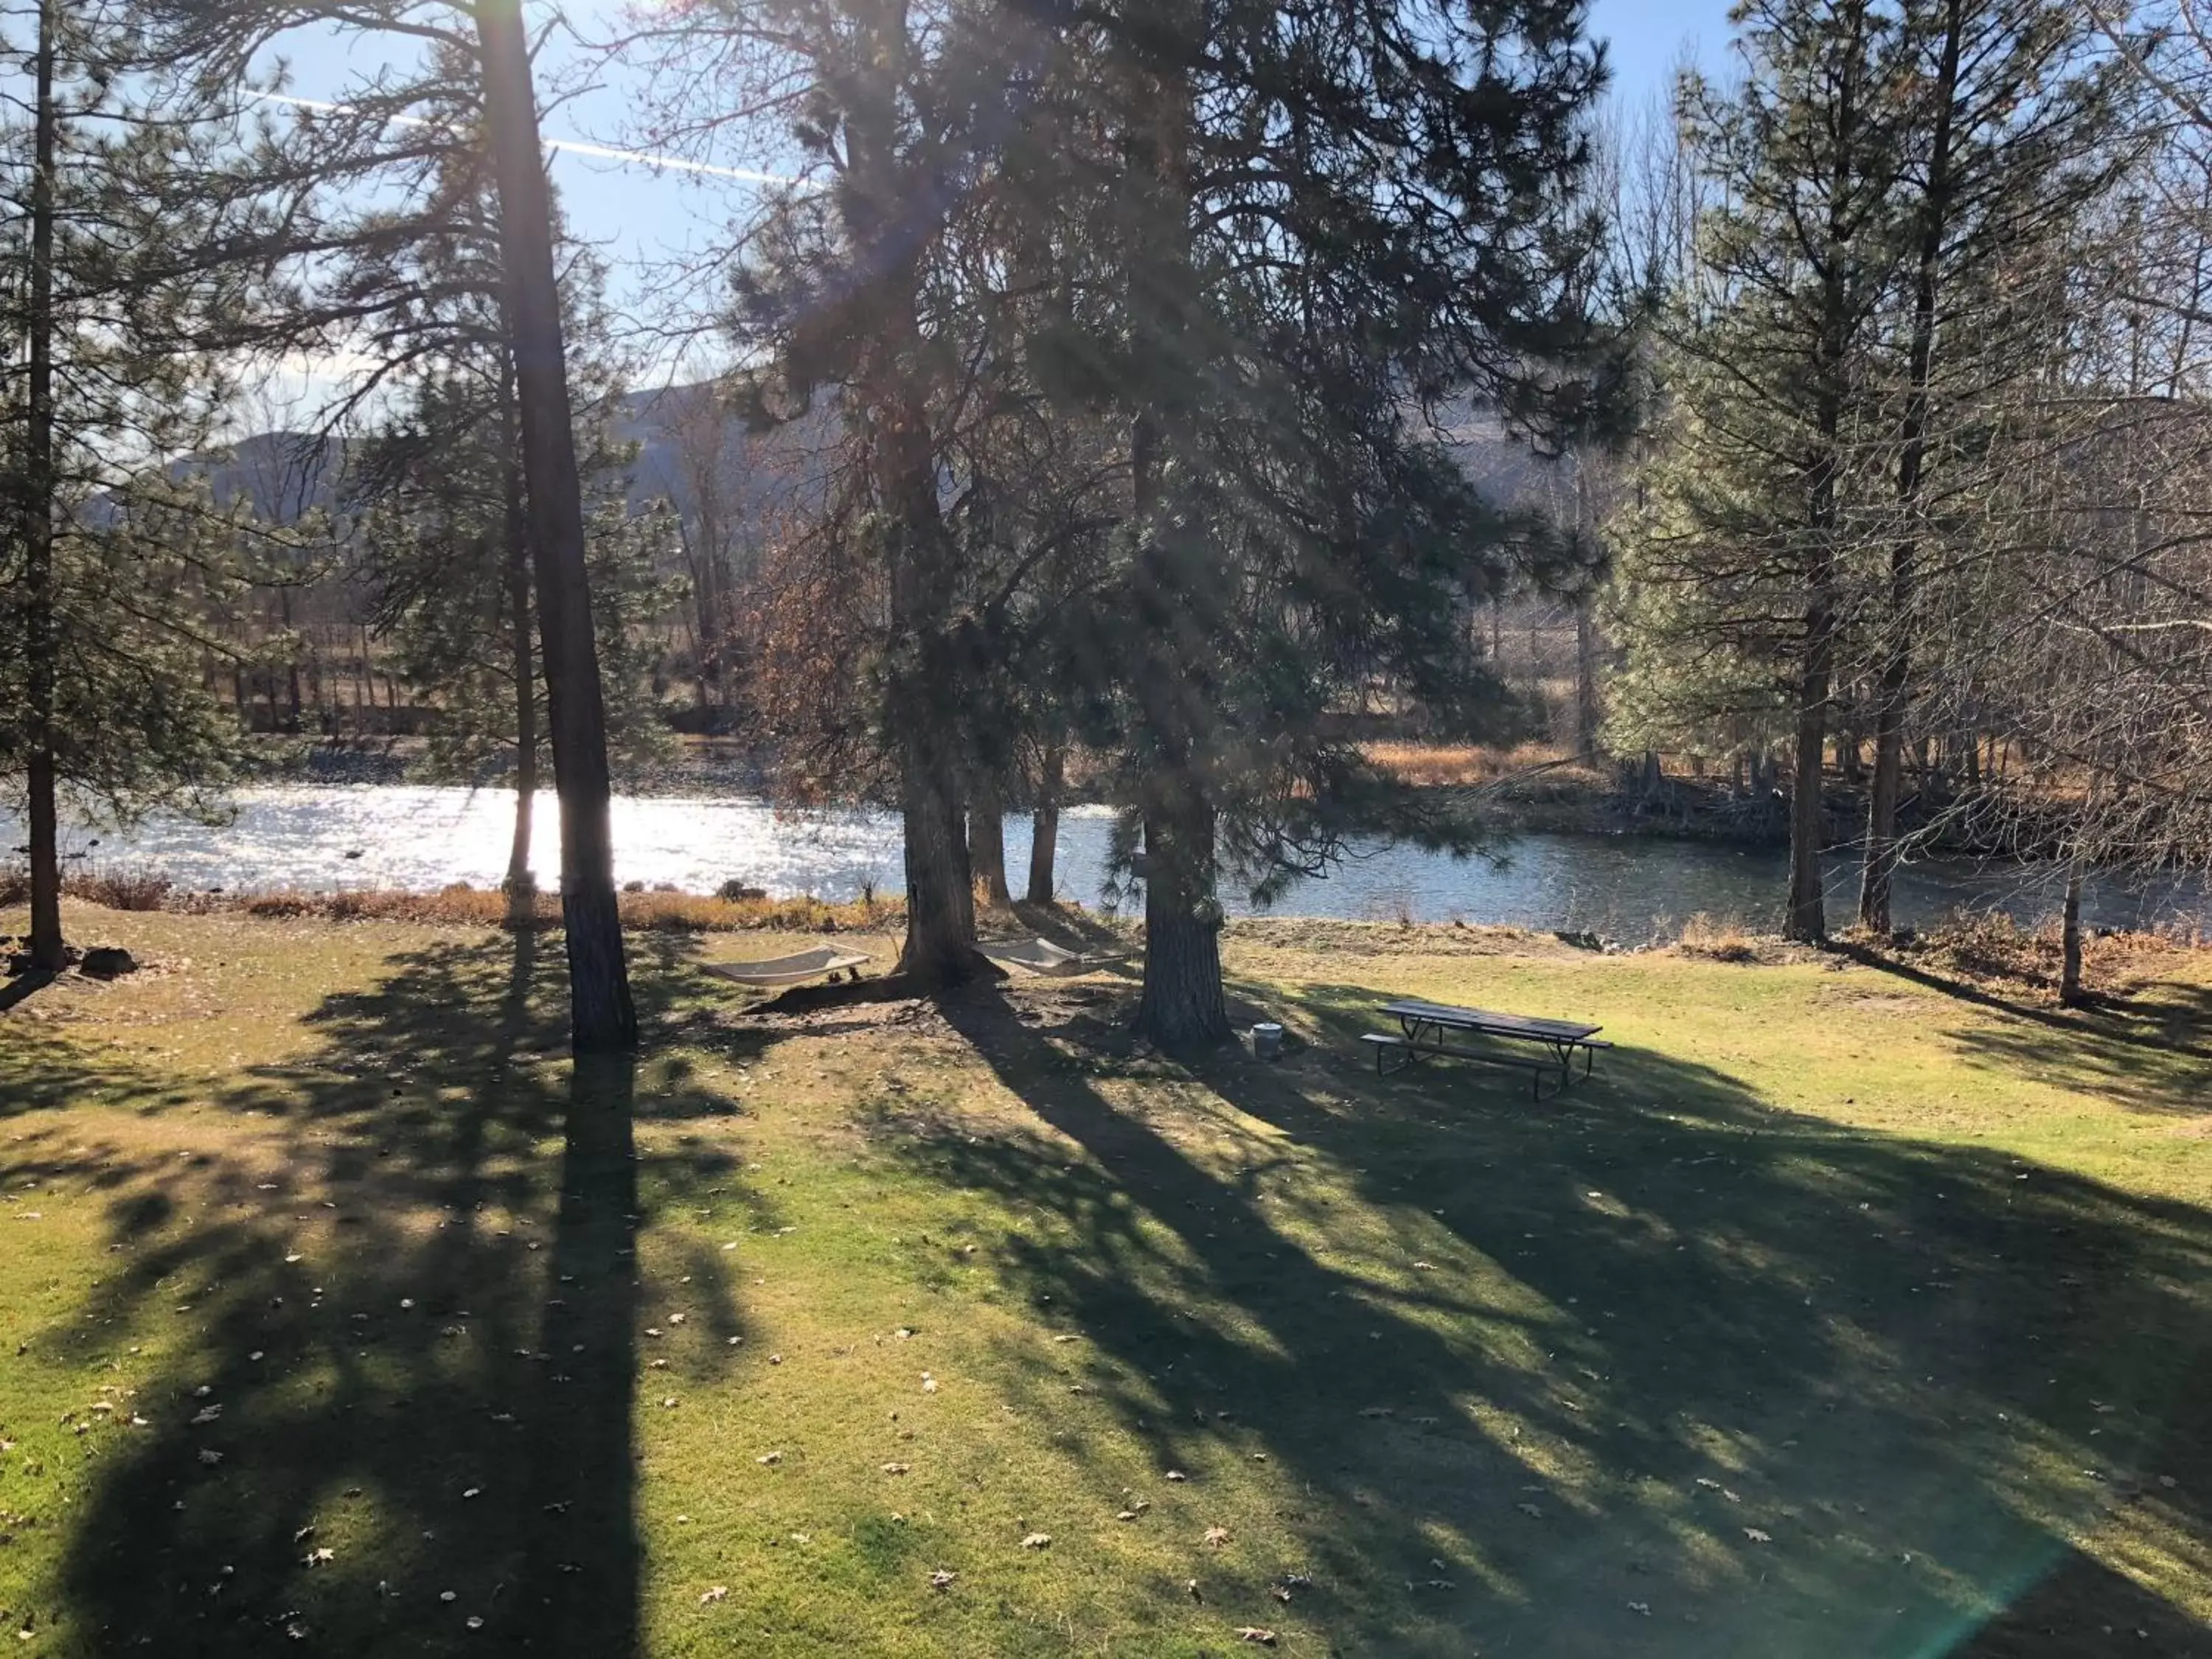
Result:
M73 1155L122 1259L35 1338L117 1407L69 1511L84 1652L637 1650L639 1183L728 1159L637 1155L635 1064L560 1057L533 931L389 967L195 1159Z

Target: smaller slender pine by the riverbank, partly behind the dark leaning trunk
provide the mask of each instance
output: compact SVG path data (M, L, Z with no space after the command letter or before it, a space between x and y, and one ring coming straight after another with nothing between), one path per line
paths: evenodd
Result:
M467 77L451 113L456 142L440 157L429 204L394 234L354 250L336 294L374 314L385 414L347 458L349 504L361 513L361 560L383 633L436 706L429 759L476 776L513 759L515 830L507 889L529 914L531 807L544 757L544 681L535 648L535 577L520 453L520 398L500 279L498 201L482 148L469 142ZM624 507L633 445L613 436L622 398L608 345L604 270L564 246L564 332L577 387L577 453L591 498L586 562L611 743L633 761L657 754L661 723L644 690L637 624L657 613L655 573L668 529L630 522Z

